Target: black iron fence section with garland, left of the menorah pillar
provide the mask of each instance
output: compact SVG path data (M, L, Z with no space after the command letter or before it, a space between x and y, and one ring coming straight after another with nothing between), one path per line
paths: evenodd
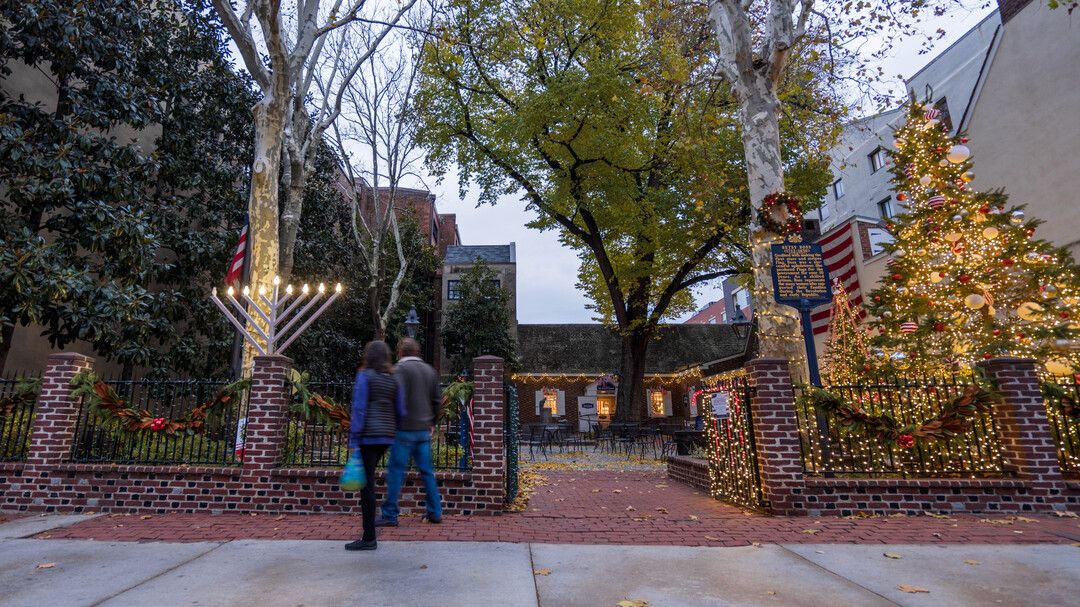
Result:
M181 418L199 404L214 399L229 383L226 379L106 379L117 395L154 417ZM239 466L237 429L247 415L247 399L226 405L203 432L129 432L103 422L84 404L76 424L71 460L102 463Z

